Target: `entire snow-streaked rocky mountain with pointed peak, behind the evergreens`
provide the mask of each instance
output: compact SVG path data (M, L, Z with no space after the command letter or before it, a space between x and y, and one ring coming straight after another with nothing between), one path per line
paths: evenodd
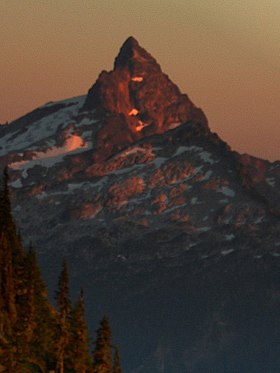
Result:
M232 151L134 38L1 126L0 163L50 291L66 257L126 373L279 372L280 162Z

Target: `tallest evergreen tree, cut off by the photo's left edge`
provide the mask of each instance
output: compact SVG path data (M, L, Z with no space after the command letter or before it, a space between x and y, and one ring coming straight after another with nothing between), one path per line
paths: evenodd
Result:
M23 357L18 340L17 325L21 304L20 288L23 281L24 251L16 232L10 203L7 167L0 187L0 355L7 371L20 371L18 361ZM24 372L24 370L22 370Z

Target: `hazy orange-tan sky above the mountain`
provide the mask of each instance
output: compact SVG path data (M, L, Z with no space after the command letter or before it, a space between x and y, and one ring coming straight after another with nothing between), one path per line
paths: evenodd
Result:
M0 123L85 94L132 35L233 149L280 160L279 0L0 0Z

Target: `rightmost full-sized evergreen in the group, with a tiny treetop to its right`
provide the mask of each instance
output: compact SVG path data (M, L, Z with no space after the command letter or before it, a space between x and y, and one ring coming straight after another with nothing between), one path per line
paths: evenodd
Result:
M109 320L106 316L98 328L95 349L93 352L93 373L112 372L112 333Z

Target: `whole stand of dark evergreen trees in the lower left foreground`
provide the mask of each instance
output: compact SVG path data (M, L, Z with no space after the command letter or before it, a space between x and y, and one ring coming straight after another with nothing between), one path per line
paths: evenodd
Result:
M72 306L66 262L56 300L57 310L47 298L34 249L23 249L11 214L5 169L0 189L0 372L120 373L106 317L97 330L94 351L89 352L83 293Z

